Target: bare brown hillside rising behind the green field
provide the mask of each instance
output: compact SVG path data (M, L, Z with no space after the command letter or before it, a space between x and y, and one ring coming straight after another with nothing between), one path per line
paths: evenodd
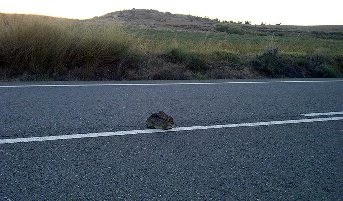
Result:
M228 19L229 20L229 19ZM132 9L108 13L100 17L87 19L87 22L107 23L116 21L130 28L217 32L216 26L221 24L218 19L206 17L172 14L170 12L159 12L157 10ZM321 25L321 26L292 26L292 25L246 25L238 23L226 23L231 27L241 27L244 30L256 32L283 32L286 35L309 34L309 32L342 32L343 25ZM248 33L253 31L248 31Z

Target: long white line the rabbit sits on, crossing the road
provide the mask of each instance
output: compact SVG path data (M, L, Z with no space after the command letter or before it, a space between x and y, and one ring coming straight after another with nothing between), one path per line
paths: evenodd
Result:
M343 117L297 119L297 120L284 120L284 121L271 121L271 122L210 125L210 126L177 127L177 128L173 128L172 130L168 130L168 131L162 130L162 129L145 129L145 130L128 130L128 131L117 131L117 132L74 134L74 135L12 138L12 139L0 140L0 144L19 143L19 142L37 142L37 141L48 141L48 140L65 140L65 139L89 138L89 137L104 137L104 136L116 136L116 135L133 135L133 134L159 133L159 132L174 132L174 131L185 131L185 130L203 130L203 129L231 128L231 127L244 127L244 126L266 126L266 125L277 125L277 124L322 122L322 121L334 121L334 120L343 120Z

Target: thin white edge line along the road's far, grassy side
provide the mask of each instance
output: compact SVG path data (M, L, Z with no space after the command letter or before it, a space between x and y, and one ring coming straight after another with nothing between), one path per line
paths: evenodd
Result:
M304 80L304 81L256 81L256 82L199 82L199 83L147 83L147 84L50 84L50 85L8 85L9 87L75 87L75 86L148 86L148 85L201 85L201 84L261 84L261 83L302 83L302 82L343 82L343 80Z

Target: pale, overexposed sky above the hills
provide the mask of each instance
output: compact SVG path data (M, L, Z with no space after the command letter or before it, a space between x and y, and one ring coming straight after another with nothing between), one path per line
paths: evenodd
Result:
M132 8L251 24L343 25L343 0L3 0L0 12L87 19Z

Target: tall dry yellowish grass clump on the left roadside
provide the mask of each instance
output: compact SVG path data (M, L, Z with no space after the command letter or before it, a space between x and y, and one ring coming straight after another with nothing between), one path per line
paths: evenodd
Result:
M0 50L2 74L24 73L29 80L118 79L138 58L133 37L118 25L3 13Z

